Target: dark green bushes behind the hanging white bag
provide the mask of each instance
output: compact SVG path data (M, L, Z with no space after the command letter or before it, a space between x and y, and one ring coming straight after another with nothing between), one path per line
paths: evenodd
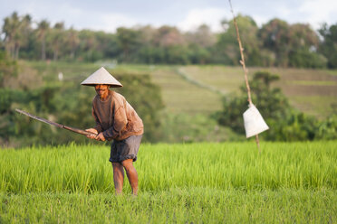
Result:
M319 121L295 110L281 89L272 86L277 79L277 75L260 71L250 81L253 103L270 126L262 136L273 141L336 139L336 115L332 114L326 120ZM239 134L245 133L242 114L248 108L246 94L246 86L242 86L240 94L226 96L223 98L223 111L216 114L220 125L229 126Z

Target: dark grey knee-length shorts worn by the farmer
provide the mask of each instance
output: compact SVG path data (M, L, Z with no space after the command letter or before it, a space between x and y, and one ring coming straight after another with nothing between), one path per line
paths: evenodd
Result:
M123 140L113 140L111 144L110 159L111 163L120 163L124 160L137 160L137 154L140 149L141 137L143 135L131 135Z

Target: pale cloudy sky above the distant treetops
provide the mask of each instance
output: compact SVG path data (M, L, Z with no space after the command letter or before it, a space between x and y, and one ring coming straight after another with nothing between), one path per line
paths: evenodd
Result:
M273 18L287 23L309 23L314 30L322 23L337 23L336 0L232 0L235 14L251 16L261 27ZM193 31L207 24L221 31L220 21L231 19L228 0L0 0L0 25L16 11L30 14L34 22L43 19L66 28L114 33L120 26L177 26Z

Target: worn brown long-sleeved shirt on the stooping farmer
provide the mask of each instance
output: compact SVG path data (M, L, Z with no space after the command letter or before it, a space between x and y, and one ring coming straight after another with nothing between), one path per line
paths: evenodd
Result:
M103 132L107 140L123 140L144 132L143 122L135 109L123 96L111 90L104 101L98 95L93 98L92 116L96 121L94 128Z

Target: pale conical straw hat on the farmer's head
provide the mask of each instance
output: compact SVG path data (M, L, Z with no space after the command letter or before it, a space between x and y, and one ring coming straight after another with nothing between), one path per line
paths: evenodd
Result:
M103 67L93 72L90 77L81 82L81 85L84 86L95 86L97 84L106 84L110 85L111 87L123 86L117 79L113 78L113 76L111 76L111 74Z

